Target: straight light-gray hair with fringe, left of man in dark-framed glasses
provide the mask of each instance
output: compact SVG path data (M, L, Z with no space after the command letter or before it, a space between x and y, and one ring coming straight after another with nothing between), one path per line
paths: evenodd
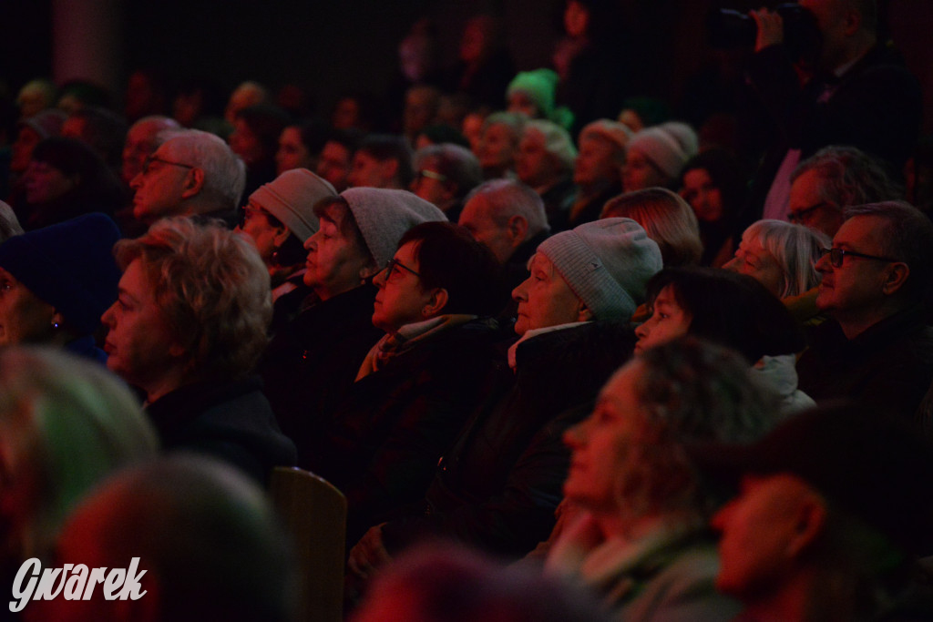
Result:
M752 239L758 239L761 247L781 267L784 287L780 297L800 296L819 284L822 275L816 271L815 263L820 257L820 249L829 248L832 244L828 235L783 220L759 220L742 234L743 241Z

